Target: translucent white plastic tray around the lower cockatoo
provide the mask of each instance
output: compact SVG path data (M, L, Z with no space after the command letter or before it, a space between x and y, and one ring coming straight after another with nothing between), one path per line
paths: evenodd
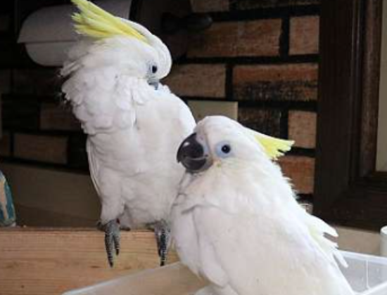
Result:
M343 251L343 273L360 295L387 295L387 258ZM182 263L144 270L134 275L68 291L63 295L188 295L205 285Z

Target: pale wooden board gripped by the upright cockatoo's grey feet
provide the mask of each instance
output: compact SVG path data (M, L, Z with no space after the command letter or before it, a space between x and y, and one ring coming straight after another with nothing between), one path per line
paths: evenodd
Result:
M175 253L170 262L177 261ZM119 275L158 267L153 232L121 232L121 253L108 266L103 232L94 229L0 230L0 294L58 295Z

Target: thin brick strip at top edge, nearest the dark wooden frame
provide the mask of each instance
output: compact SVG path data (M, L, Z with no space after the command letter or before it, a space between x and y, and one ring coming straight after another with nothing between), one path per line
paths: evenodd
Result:
M319 4L319 0L236 0L236 8L240 10L281 7L295 5Z

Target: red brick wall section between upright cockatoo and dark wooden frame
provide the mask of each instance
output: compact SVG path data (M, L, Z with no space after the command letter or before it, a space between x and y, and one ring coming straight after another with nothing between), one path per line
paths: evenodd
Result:
M315 173L319 1L191 0L209 12L210 29L165 83L185 100L237 101L239 121L296 140L280 160L301 197L311 199Z

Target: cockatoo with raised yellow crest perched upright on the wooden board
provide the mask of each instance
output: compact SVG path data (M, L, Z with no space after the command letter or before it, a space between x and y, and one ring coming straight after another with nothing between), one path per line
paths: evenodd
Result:
M120 228L151 226L161 263L168 216L184 168L179 143L194 129L188 107L158 84L171 68L167 46L145 27L116 18L87 0L72 0L84 38L68 55L62 90L87 133L91 178L101 199L108 261L120 249Z

